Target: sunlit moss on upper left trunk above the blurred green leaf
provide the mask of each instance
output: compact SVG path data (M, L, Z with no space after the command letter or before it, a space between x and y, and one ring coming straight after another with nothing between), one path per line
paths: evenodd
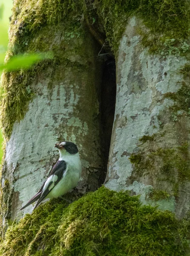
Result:
M65 43L70 44L71 40L81 36L82 31L79 29L80 12L76 12L77 8L82 9L81 1L67 0L63 3L58 0L48 0L45 3L37 0L15 1L11 19L11 51L18 54L31 51L32 48L34 51L48 50L48 39L51 38L52 29L63 22L65 32L62 37ZM36 37L39 39L37 45L31 44Z

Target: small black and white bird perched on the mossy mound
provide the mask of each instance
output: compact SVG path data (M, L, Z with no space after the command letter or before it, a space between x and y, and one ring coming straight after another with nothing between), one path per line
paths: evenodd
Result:
M58 198L77 186L82 171L77 145L65 141L55 144L55 147L60 151L59 160L37 194L20 210L38 200L35 209L46 198Z

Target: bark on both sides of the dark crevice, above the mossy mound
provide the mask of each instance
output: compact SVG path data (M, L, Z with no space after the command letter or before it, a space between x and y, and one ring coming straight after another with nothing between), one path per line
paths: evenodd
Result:
M157 19L152 25L160 34L166 35L171 17L188 30L188 17L182 25L180 20L187 1L176 3L173 10L165 2L71 2L15 1L9 57L51 51L54 58L42 61L27 76L22 70L3 76L6 97L2 119L10 135L2 174L3 219L19 219L31 212L31 207L23 212L18 209L37 192L56 162L58 152L53 147L57 141L71 140L79 146L83 165L79 193L95 190L104 180L101 63L96 58L102 49L97 48L89 30L95 38L105 32L117 56L116 111L105 186L130 190L132 195L140 195L143 204L158 204L160 209L183 217L190 201L190 89L183 68L188 56L177 51L173 54L170 46L168 53L162 49L150 53L150 47L143 46L142 35L153 33L143 25L149 21L146 13L152 15L151 23ZM132 17L135 10L143 20ZM122 35L125 23L128 25ZM99 33L93 29L99 29ZM102 38L96 39L102 43ZM31 96L24 102L19 97L11 100L22 90L23 95L34 94L29 105Z

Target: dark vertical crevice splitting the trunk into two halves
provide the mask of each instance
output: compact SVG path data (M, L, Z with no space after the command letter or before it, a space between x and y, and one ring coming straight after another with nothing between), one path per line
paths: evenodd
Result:
M98 19L97 19L98 20ZM111 145L111 134L113 128L115 104L116 104L116 61L112 49L106 39L106 33L101 22L91 24L87 19L86 25L96 42L101 46L97 58L102 64L102 85L100 90L100 115L102 124L102 153L104 163L104 174L100 175L99 186L105 182L109 150Z

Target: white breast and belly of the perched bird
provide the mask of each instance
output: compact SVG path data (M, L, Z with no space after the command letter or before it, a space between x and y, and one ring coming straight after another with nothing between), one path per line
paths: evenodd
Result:
M67 169L63 174L62 179L51 190L46 198L58 198L67 193L70 189L77 186L82 172L82 164L79 158L79 153L74 155L61 156L59 160L64 160L67 163Z

